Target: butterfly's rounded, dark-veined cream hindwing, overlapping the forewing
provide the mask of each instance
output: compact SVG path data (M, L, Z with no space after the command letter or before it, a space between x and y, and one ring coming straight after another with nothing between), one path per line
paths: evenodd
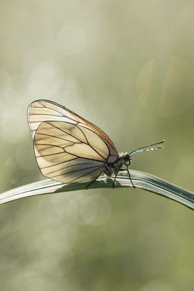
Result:
M104 175L109 148L96 132L64 121L43 121L34 135L42 175L63 183Z

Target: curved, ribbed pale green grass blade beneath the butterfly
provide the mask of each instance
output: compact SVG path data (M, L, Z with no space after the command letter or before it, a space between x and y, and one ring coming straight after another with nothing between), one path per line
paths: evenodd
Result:
M130 175L135 187L170 198L194 210L194 193L148 173L130 170ZM63 184L46 179L0 194L0 204L28 196L83 190L86 189L89 182L90 180L84 180L76 183ZM113 179L100 177L91 184L89 189L112 188L112 185ZM127 171L126 173L125 171L120 172L117 175L115 188L121 187L132 187Z

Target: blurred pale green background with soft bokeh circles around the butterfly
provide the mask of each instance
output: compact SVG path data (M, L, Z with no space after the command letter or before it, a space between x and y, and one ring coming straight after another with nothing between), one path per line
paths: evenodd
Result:
M44 179L26 111L55 101L131 168L194 191L193 1L1 0L1 192ZM193 212L140 189L0 205L0 289L194 290Z

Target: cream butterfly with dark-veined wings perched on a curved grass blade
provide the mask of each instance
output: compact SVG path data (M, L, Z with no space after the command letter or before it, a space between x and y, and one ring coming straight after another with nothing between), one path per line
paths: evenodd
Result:
M100 176L116 176L127 170L131 155L143 150L161 148L163 143L138 148L130 153L119 153L111 139L96 125L48 100L32 102L27 111L29 128L34 143L35 158L43 176L72 183L86 179L91 182ZM127 169L122 169L123 166ZM131 183L135 188L132 180Z

